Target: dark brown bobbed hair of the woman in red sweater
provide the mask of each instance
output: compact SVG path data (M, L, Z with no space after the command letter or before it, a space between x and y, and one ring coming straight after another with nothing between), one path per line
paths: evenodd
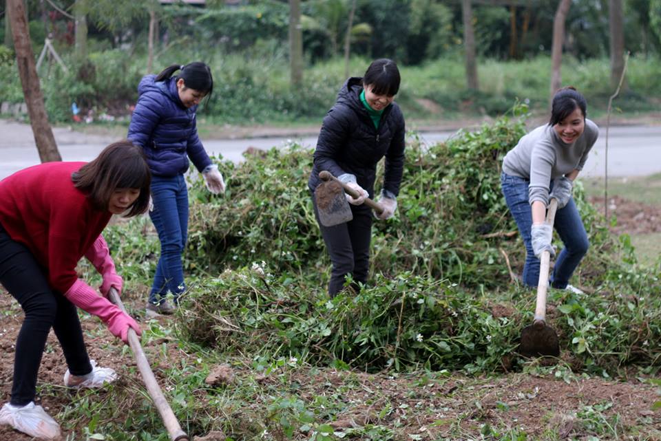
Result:
M98 211L107 211L110 197L117 189L140 189L126 217L145 213L149 208L149 165L143 149L129 140L107 146L94 160L74 171L71 180L76 189L87 193Z

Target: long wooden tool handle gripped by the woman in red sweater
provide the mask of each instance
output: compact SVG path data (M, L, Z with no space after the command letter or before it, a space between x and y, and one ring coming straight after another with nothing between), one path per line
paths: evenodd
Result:
M120 310L126 312L122 300L119 298L119 294L117 294L117 290L115 288L110 288L108 297L109 300L117 305ZM158 409L158 413L160 414L160 418L163 420L163 424L165 424L165 429L167 429L167 433L170 435L170 440L189 441L190 438L188 438L188 435L182 431L181 426L177 421L177 417L174 415L174 412L172 411L170 405L167 403L167 400L165 400L165 396L163 396L163 393L160 390L160 386L156 382L154 372L151 372L149 361L145 356L145 352L143 352L143 347L140 345L138 334L136 334L136 332L131 327L129 327L127 338L129 340L129 346L131 346L131 350L133 351L133 355L136 358L138 369L140 369L140 375L143 376L143 383L145 383L145 386L147 387L149 396L151 396L151 399L154 400L154 405L156 406L156 409Z

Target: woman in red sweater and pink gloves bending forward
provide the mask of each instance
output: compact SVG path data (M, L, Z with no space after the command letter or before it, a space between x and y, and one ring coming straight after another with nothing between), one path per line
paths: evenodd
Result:
M36 378L52 327L62 347L68 387L101 387L112 369L96 367L83 341L76 307L98 316L127 342L140 326L106 297L122 288L101 236L110 217L144 213L151 175L142 149L129 141L106 147L92 162L46 162L0 182L0 283L19 301L25 319L14 352L10 402L0 424L36 438L59 437L59 425L34 405ZM103 276L99 296L78 279L76 265L87 257Z

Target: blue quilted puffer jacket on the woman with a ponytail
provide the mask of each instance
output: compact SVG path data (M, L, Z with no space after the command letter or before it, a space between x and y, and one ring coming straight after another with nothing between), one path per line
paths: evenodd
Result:
M143 147L151 173L176 176L186 173L189 158L198 171L211 165L198 137L195 112L187 109L177 91L176 77L154 82L144 76L138 85L138 104L133 112L127 138Z

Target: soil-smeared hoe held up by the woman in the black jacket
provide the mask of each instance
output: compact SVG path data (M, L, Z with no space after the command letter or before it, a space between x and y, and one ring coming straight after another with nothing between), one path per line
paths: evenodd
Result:
M322 222L322 225L333 226L353 219L351 208L346 197L344 197L344 193L354 198L359 197L360 194L344 182L335 178L329 171L320 171L319 179L322 180L322 183L315 190L315 200L317 201L319 221ZM333 203L330 203L330 201ZM372 208L377 215L384 212L384 207L369 197L365 199L364 204Z

